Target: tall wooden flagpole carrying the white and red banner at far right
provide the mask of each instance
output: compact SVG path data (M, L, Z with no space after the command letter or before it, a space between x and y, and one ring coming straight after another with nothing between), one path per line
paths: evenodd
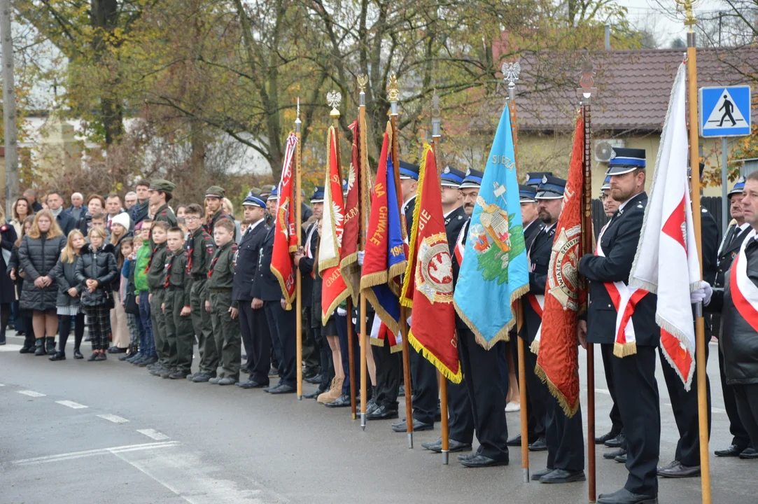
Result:
M695 50L695 30L697 20L692 13L692 1L677 3L683 5L684 24L687 33L687 80L690 121L690 183L692 197L692 221L697 243L697 258L700 261L700 280L703 280L703 247L700 233L700 149L699 128L697 127L697 52ZM656 167L657 168L657 167ZM700 490L703 504L711 503L710 459L708 454L708 397L706 394L706 336L703 319L703 302L695 303L695 371L697 372L697 419L700 430Z

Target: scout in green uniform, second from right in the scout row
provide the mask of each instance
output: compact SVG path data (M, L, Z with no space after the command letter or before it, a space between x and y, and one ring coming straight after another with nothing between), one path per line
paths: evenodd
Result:
M211 235L202 228L202 216L205 212L200 205L189 205L184 210L184 220L189 230L189 247L187 248L187 272L192 280L189 290L189 307L192 311L192 324L197 337L200 352L199 372L192 377L193 382L202 383L216 376L218 368L218 351L213 339L211 314L205 310L208 299L208 268L216 252Z

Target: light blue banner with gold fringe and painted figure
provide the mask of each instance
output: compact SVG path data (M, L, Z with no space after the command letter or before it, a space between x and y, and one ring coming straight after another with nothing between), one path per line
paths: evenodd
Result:
M508 331L515 323L512 304L529 290L507 107L500 116L468 229L453 299L477 343L488 350L498 341L508 340Z

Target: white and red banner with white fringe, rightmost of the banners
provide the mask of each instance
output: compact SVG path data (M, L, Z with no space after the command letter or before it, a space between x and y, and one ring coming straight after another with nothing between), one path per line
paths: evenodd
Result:
M688 184L686 67L679 65L663 124L650 199L645 208L629 286L658 294L661 349L684 389L695 370L695 328L690 293L700 288L700 261Z

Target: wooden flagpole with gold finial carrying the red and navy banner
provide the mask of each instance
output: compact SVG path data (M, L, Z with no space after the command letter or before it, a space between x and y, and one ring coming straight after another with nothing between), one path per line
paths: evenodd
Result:
M395 192L397 193L397 206L402 207L402 192L400 190L400 157L397 148L397 102L399 90L395 72L390 73L390 82L387 84L387 99L390 100L390 126L392 127L392 162L395 167ZM405 228L402 229L405 234ZM400 333L402 334L402 381L406 387L406 432L408 433L408 447L413 448L413 406L411 403L411 352L408 343L408 314L406 307L400 306Z

